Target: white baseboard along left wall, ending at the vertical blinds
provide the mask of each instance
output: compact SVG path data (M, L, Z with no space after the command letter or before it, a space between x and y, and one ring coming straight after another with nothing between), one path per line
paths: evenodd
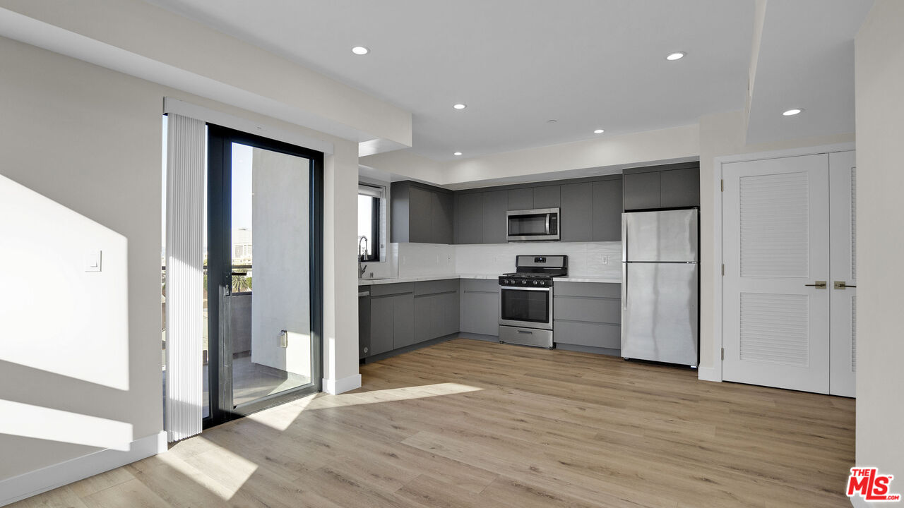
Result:
M0 480L0 506L15 503L26 497L41 494L89 476L99 475L119 466L126 466L143 458L163 453L166 448L166 432L160 432L132 441L128 451L103 449L60 464L42 467L24 475Z

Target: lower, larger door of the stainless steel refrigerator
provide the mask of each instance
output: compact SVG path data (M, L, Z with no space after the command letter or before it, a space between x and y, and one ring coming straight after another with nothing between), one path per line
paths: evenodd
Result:
M626 263L622 349L625 358L697 365L696 263Z

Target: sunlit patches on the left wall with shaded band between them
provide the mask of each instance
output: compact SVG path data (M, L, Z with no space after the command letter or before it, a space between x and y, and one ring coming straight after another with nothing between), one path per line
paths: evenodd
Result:
M4 176L0 218L0 442L128 449L127 239Z

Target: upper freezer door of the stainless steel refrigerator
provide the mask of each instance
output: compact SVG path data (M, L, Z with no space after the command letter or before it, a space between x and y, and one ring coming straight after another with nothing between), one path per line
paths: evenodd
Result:
M697 259L697 210L622 214L623 261Z

